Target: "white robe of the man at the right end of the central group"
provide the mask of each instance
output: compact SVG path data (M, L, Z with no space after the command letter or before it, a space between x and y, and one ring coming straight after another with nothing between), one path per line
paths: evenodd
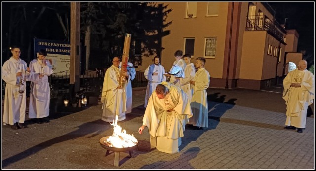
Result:
M189 119L189 124L197 127L208 128L208 104L207 92L209 87L210 76L205 68L200 68L194 77L195 85L193 86L193 95L191 108L193 117Z

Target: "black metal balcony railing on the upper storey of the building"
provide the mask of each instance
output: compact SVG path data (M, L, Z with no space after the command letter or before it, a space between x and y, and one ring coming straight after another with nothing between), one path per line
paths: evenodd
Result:
M267 31L279 41L284 40L285 30L276 21L265 15L247 16L246 31Z

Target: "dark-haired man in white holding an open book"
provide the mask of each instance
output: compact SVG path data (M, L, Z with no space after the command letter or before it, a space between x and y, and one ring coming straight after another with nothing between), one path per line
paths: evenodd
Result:
M170 72L165 74L167 77L170 77L170 83L180 87L179 78L184 78L184 68L186 67L186 63L182 59L182 51L177 50L174 53L175 61L172 64Z

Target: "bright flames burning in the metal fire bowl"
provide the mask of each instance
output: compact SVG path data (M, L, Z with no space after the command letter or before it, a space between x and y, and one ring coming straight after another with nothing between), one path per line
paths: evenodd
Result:
M109 147L127 148L137 144L137 139L130 134L126 134L126 130L117 125L117 121L113 121L113 134L104 143Z

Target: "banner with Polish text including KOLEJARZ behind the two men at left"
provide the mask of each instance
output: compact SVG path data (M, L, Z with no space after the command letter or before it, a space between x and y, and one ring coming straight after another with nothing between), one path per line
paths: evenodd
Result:
M55 75L69 75L70 70L70 42L45 40L34 38L34 56L38 56L40 49L47 51L47 57L53 66Z

